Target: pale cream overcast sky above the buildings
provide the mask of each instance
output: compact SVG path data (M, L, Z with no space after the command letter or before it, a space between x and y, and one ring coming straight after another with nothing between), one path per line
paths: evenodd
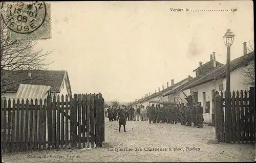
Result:
M53 50L47 69L67 70L73 94L105 101L130 102L195 77L212 51L225 64L227 29L236 35L231 60L243 55L243 42L254 45L252 1L51 2L51 22L52 38L35 47Z

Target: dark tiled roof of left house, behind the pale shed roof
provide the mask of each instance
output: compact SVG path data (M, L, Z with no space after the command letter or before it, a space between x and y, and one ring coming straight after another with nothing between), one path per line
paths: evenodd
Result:
M67 70L1 70L1 89L5 93L16 93L20 84L51 86L52 92L59 93ZM2 91L3 92L3 91Z

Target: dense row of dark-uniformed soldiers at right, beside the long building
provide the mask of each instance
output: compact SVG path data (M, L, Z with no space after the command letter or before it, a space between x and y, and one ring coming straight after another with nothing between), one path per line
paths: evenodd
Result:
M189 106L188 103L186 105L181 103L180 105L165 104L162 106L161 104L156 106L152 104L148 107L147 113L150 123L177 124L179 122L181 125L203 128L203 107L200 102L194 103L193 106Z

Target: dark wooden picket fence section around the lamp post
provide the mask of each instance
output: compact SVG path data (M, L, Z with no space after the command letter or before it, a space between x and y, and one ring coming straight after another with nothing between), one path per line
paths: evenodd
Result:
M254 88L248 92L232 91L231 112L225 109L226 91L215 94L216 139L225 143L255 143Z

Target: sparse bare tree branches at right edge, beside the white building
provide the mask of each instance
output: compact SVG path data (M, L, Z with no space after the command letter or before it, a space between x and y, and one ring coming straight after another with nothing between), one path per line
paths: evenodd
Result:
M248 52L254 52L254 48L252 44L249 42L249 47L247 48ZM242 75L244 76L243 84L246 86L255 86L255 70L254 70L254 62L248 62L246 69L242 69Z

